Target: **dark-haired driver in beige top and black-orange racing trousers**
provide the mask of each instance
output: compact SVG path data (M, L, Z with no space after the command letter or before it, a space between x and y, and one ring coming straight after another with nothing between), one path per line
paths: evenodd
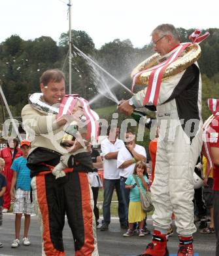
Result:
M92 163L90 153L84 152L83 157L76 159L77 152L82 148L78 140L67 141L73 145L69 150L59 144L63 125L67 123L66 119L57 119L59 104L65 96L63 72L46 70L41 75L40 87L42 95L31 95L30 103L22 110L22 119L25 129L34 136L27 165L31 169L33 196L42 223L42 255L65 255L62 231L66 214L76 255L97 256L92 194L88 169L84 166L86 162ZM67 153L74 156L65 163L69 167L63 170L65 178L56 179L52 169L59 163L61 155Z

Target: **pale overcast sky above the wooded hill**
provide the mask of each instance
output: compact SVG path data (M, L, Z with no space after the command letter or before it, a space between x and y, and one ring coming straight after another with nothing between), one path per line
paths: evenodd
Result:
M10 35L58 41L69 30L69 0L0 0L0 43ZM131 39L135 47L150 42L161 23L176 27L219 28L218 0L72 0L72 28L84 30L99 49L116 38Z

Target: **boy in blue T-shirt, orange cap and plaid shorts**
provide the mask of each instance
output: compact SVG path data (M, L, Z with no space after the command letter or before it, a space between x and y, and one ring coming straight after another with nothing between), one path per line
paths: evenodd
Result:
M27 155L31 149L31 144L28 140L22 140L20 149L22 150L23 156L16 158L13 161L11 169L14 171L12 184L10 188L10 196L14 200L13 213L15 217L15 240L12 242L11 247L16 248L20 245L20 225L22 215L24 213L24 238L23 244L30 245L31 242L27 238L29 223L31 214L34 213L34 204L31 203L30 190L31 190L31 178L30 170L27 167ZM16 192L14 195L14 187L16 186Z

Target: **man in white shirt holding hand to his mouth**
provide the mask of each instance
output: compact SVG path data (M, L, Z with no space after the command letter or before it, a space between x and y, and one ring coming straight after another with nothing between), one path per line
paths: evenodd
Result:
M146 151L143 146L135 144L135 135L131 131L126 133L126 146L118 152L117 168L120 169L120 188L126 211L126 222L129 209L129 189L126 189L127 177L133 174L135 163L146 160Z

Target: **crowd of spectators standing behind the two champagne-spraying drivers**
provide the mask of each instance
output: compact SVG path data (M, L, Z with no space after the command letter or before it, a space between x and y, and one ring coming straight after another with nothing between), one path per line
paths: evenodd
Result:
M154 179L156 144L159 134L157 131L156 138L150 141L148 154L146 154L143 146L136 144L135 135L132 131L126 132L124 140L118 139L119 135L119 127L109 127L107 137L101 142L100 150L93 148L92 144L87 146L92 156L93 167L95 168L93 173L88 173L93 192L95 223L101 231L109 229L110 205L112 194L115 190L118 198L120 227L127 229L123 236L128 237L137 234L141 237L145 234L150 234L150 230L146 228L146 212L141 207L139 188L133 174L137 176L137 180L144 192L150 191L150 184L152 184ZM14 202L13 213L16 216L15 239L11 247L18 247L20 245L21 217L23 214L25 222L22 242L24 245L31 244L27 234L30 216L34 213L34 204L31 202L31 178L29 176L29 169L26 166L30 148L31 144L29 141L22 141L19 148L18 140L14 139L10 140L7 146L1 149L0 226L3 223L3 213L7 213L10 209L10 202ZM197 163L194 171L203 179L203 186L195 189L194 222L199 223L199 232L201 234L211 234L215 232L212 189L214 181L213 170L204 156L201 156ZM98 169L103 169L103 181L98 175ZM97 200L99 189L103 188L103 186L103 221L99 223ZM9 203L7 190L9 190L10 196ZM4 209L7 209L7 211L4 211ZM172 226L170 230L169 234L172 235ZM0 247L3 247L1 242Z

